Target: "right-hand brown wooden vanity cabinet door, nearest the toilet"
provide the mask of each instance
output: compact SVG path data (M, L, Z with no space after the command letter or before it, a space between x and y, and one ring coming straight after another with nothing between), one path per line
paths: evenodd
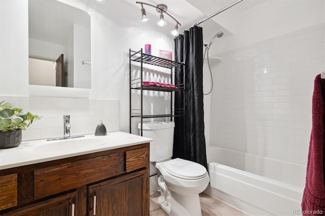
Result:
M89 186L88 215L149 215L147 170Z

